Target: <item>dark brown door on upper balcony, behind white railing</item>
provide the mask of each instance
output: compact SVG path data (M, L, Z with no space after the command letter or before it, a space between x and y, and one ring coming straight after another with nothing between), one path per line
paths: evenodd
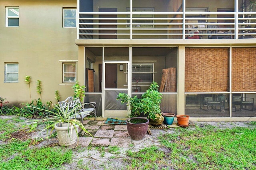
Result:
M117 12L117 8L100 8L99 12ZM100 15L100 18L117 18L117 15ZM116 34L117 33L117 20L100 20L99 23L114 23L113 25L99 25L100 28L113 28L113 29L108 29L108 30L101 30L99 33L102 34ZM100 38L110 38L110 39L116 39L117 35L100 35Z

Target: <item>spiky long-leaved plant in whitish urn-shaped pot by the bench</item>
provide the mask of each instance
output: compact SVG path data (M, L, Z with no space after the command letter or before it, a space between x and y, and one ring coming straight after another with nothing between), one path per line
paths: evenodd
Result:
M29 106L29 107L32 107L32 106ZM33 107L33 108L37 108L39 110L47 111L51 113L51 115L48 115L46 116L45 119L43 119L43 121L48 121L48 124L46 125L46 128L44 128L42 131L47 130L47 134L48 134L49 129L51 129L50 130L51 133L55 129L57 131L59 145L69 146L76 143L78 139L79 127L84 133L92 136L85 129L82 122L79 121L78 119L75 119L76 115L86 114L85 112L76 111L80 107L81 106L75 106L73 109L70 110L68 107L61 108L59 105L54 104L54 109L52 110L40 109L37 107ZM88 115L89 115L89 111L88 111ZM42 131L40 131L40 133ZM37 140L37 137L36 137L36 140Z

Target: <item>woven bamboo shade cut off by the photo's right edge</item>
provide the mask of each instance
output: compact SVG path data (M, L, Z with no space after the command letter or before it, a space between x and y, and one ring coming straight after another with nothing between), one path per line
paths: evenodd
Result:
M256 91L256 48L232 48L232 92Z

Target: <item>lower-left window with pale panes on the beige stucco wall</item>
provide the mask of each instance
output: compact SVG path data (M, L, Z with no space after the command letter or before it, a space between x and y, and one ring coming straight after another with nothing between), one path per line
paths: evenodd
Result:
M18 64L5 64L5 80L4 82L18 82Z

